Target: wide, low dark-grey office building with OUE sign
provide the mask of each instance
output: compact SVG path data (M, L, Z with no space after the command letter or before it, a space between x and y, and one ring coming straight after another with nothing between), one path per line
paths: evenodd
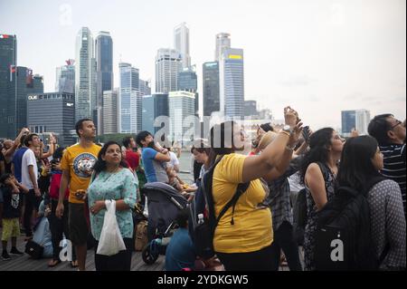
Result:
M71 146L76 142L74 98L74 94L64 92L29 94L28 128L40 134L52 132L60 145Z

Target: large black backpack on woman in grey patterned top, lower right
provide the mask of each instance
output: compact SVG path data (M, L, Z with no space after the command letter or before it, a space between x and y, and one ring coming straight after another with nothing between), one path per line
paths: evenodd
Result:
M364 192L339 187L336 196L317 214L315 243L316 270L377 270L387 255L388 246L379 259L371 236L370 207L366 194L382 181L374 177Z

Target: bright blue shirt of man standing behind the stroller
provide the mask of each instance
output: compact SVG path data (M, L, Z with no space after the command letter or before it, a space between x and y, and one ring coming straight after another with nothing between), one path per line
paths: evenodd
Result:
M146 172L146 178L148 183L162 182L168 183L168 176L166 174L166 162L160 162L156 160L156 154L158 152L155 149L144 148L141 153L143 159L144 171Z

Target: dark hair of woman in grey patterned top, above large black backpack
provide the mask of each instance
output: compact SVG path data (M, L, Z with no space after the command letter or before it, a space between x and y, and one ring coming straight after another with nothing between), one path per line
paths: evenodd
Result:
M377 147L377 140L371 136L346 140L336 178L338 185L364 191L367 181L374 176L379 176L372 162Z

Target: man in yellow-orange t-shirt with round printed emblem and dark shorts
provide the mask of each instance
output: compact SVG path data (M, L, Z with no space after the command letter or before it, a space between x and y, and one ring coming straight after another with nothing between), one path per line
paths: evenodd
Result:
M62 217L64 213L69 214L70 239L76 248L79 269L84 271L89 235L89 226L85 217L88 212L85 211L84 198L100 147L93 142L96 137L96 127L92 120L79 120L75 130L80 141L63 153L60 198L56 216ZM69 211L65 211L63 199L68 187L70 189Z

